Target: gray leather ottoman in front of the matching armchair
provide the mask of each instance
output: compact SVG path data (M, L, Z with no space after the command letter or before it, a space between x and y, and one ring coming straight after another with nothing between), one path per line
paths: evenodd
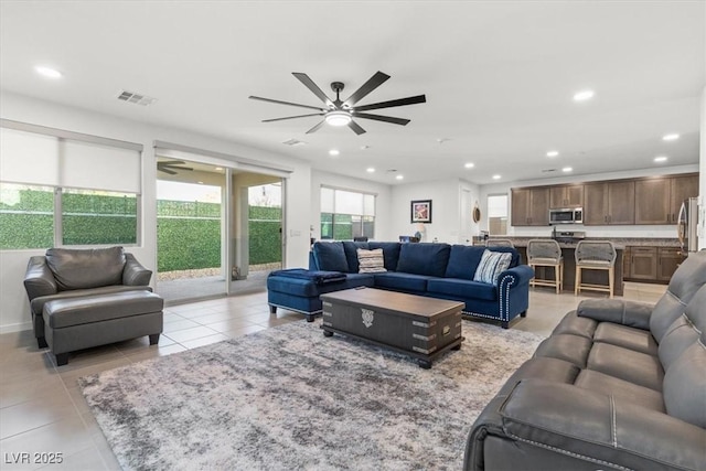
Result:
M151 291L55 299L42 312L46 343L58 366L68 363L68 352L142 335L156 345L163 307L164 300Z

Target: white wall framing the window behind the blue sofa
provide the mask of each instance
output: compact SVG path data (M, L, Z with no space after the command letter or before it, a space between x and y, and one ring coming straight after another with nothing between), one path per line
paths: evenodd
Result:
M375 240L397 240L397 236L392 236L389 208L392 188L387 184L375 183L366 180L355 179L352 176L339 175L335 173L321 172L313 170L311 172L311 201L308 203L311 217L308 221L313 227L311 237L317 240L321 239L321 186L332 186L341 190L351 190L361 193L373 193L375 197ZM307 226L307 235L309 226ZM304 235L304 234L302 234ZM302 265L308 267L309 264Z

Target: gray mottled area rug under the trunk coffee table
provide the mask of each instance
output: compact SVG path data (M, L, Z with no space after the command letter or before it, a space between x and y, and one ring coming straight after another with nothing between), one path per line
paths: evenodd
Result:
M475 417L541 336L463 321L422 370L292 322L79 379L125 470L458 470Z

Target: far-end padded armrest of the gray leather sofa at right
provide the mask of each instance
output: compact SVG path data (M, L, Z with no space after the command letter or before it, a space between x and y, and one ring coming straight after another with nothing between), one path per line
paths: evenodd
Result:
M576 313L579 318L650 330L653 308L653 304L622 299L587 299L578 304Z

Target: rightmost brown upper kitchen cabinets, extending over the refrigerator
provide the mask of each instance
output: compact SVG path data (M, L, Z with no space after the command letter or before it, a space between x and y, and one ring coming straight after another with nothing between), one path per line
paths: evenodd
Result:
M635 224L676 224L682 201L698 194L698 174L635 181Z

